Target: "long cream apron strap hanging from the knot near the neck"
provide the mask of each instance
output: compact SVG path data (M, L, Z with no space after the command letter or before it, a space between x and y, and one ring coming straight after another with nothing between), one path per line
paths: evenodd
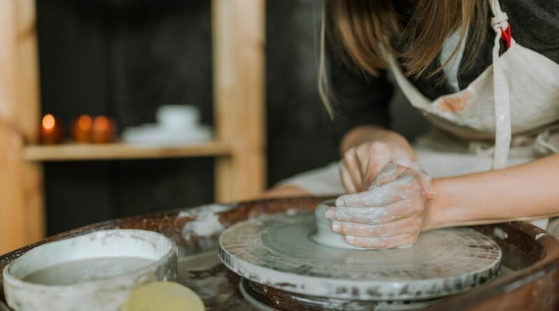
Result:
M493 45L493 96L495 104L495 154L493 155L493 169L507 166L511 143L511 112L509 99L509 86L507 77L499 58L500 41L502 32L509 29L507 13L501 11L498 0L489 0L493 18L491 27L495 30L495 43Z

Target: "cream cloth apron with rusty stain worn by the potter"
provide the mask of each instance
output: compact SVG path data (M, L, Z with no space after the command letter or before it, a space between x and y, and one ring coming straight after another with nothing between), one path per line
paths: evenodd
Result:
M559 149L559 64L516 43L507 14L498 0L489 1L496 34L493 64L465 89L431 101L405 78L394 57L385 55L402 93L435 126L414 144L419 163L433 178L523 164ZM507 50L499 56L502 38ZM344 192L334 164L281 184L312 194ZM542 229L547 223L535 222Z

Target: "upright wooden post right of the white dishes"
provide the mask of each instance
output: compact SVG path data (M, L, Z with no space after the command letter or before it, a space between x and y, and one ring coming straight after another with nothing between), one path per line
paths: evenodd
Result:
M265 1L212 0L217 201L255 198L266 186Z

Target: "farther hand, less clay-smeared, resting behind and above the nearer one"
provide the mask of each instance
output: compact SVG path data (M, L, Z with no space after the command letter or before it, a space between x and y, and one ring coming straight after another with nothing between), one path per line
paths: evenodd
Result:
M415 154L405 139L370 141L351 147L341 161L342 184L347 193L369 189L379 173L391 163L416 169ZM419 170L416 170L419 171Z

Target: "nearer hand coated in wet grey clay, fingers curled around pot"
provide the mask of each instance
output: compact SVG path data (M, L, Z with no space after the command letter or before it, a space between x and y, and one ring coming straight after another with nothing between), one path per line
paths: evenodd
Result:
M356 247L387 249L412 245L419 237L433 198L430 178L389 164L367 191L340 196L326 212L331 229Z

